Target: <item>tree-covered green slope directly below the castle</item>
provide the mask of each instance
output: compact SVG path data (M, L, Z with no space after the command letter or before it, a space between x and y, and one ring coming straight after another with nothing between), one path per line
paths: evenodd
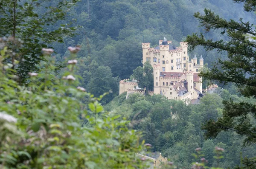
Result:
M244 137L231 131L205 140L204 131L201 130L205 121L222 116L222 101L230 98L235 102L256 102L255 99L239 97L230 92L226 89L215 90L214 94L204 96L199 105L186 105L183 101L167 100L161 95L133 94L125 100L126 93L122 93L105 109L130 120L132 128L143 132L142 139L152 144L152 152L161 152L178 168L190 168L195 160L192 154L198 147L202 147L202 154L209 161L207 166L234 168L240 165L240 157L256 156L256 145L243 147ZM253 121L253 117L250 119ZM225 149L224 158L220 161L214 158L215 146Z

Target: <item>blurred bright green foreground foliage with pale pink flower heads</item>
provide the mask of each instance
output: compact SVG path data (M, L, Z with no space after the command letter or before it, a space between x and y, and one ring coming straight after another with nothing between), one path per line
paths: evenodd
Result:
M0 51L0 168L81 169L143 168L135 153L143 153L141 134L129 121L107 112L77 87L76 53L71 48L67 71L56 78L52 50L44 49L40 73L29 73L26 86L13 80L8 59ZM72 61L72 62L70 62Z

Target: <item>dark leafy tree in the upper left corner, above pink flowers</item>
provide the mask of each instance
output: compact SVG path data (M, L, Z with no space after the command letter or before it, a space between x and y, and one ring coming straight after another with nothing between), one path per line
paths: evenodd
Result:
M21 39L23 45L16 48L6 62L14 65L20 82L35 65L44 58L42 48L51 47L52 42L64 42L64 37L73 36L75 27L64 21L69 9L79 0L0 0L0 37ZM14 67L13 67L14 68Z

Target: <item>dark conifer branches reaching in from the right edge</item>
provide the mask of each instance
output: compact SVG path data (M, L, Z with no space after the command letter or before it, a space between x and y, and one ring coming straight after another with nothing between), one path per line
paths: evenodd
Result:
M236 3L244 2L246 11L255 11L255 0L233 0ZM240 19L224 20L209 9L204 9L204 15L195 13L201 26L207 32L220 30L223 37L220 40L207 39L203 34L192 34L187 37L191 49L198 45L203 46L207 51L217 50L227 54L227 59L218 59L213 68L201 75L207 79L214 79L220 82L233 82L237 85L241 94L247 97L256 96L256 43L247 36L256 36L253 25ZM245 101L234 102L224 101L223 117L217 121L209 120L203 126L206 130L206 137L215 138L223 130L232 130L239 135L245 136L244 144L256 143L256 127L250 117L255 120L256 104Z

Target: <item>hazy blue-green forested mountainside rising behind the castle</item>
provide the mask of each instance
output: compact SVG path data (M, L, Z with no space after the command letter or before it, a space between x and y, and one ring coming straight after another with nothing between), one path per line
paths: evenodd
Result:
M255 21L253 13L244 11L243 4L232 0L81 0L70 9L69 18L75 21L73 26L81 27L76 37L53 44L58 53L55 57L61 61L67 46L81 45L81 83L96 96L112 89L113 93L105 98L109 102L118 95L119 80L129 78L142 65L143 40L154 46L166 37L178 46L187 35L204 31L193 17L204 8L226 19ZM216 32L210 32L207 37L220 38ZM225 58L225 54L205 52L202 48L190 56L194 53L202 54L209 66L216 58Z

